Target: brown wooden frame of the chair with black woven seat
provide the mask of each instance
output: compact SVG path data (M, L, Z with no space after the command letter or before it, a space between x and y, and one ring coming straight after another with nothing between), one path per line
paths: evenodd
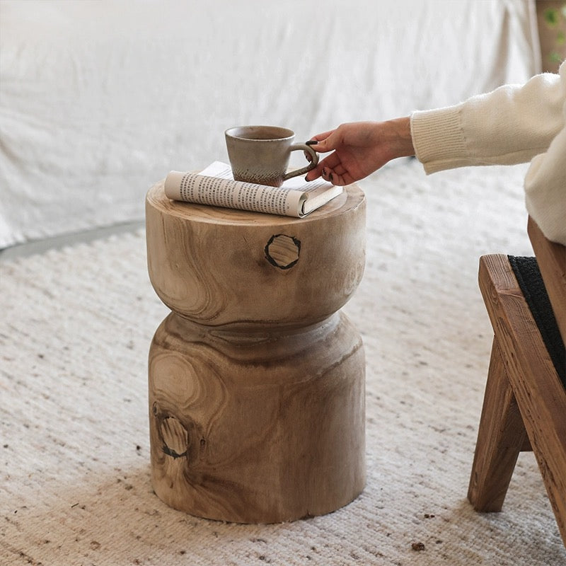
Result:
M510 258L480 258L495 337L468 499L479 512L501 511L519 451L532 449L566 545L566 248L548 241L532 219L528 231L561 345L553 362Z

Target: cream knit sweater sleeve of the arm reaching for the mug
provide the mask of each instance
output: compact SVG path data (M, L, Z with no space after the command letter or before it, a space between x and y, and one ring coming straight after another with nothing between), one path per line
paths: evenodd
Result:
M530 161L564 127L564 98L560 76L547 73L454 106L413 112L416 156L427 173Z

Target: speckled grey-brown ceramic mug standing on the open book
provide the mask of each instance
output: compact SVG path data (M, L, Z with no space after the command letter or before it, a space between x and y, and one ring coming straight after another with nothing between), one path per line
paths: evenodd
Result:
M277 126L240 126L229 128L226 149L233 177L238 181L279 187L283 181L304 175L318 163L318 154L306 144L294 144L292 129ZM287 171L291 151L311 156L308 166Z

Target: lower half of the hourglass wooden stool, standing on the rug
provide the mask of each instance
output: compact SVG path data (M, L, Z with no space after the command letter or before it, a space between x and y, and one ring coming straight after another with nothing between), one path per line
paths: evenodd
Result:
M343 314L244 341L171 313L149 376L152 479L175 509L271 523L362 491L364 354Z

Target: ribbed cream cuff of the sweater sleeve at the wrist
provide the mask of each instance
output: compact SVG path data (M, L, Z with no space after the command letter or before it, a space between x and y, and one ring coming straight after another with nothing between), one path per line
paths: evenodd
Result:
M461 105L413 112L410 125L415 155L426 173L470 164L461 125Z

